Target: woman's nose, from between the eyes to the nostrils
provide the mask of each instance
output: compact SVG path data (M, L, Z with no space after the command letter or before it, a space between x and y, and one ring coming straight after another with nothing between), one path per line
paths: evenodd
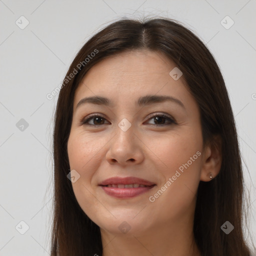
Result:
M110 164L131 165L138 164L144 159L143 142L139 135L134 133L131 125L127 130L116 125L115 135L109 142L106 160Z

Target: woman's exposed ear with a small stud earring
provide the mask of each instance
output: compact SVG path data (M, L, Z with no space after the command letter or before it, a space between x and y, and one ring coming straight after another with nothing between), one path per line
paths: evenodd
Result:
M214 135L211 142L205 145L202 154L200 180L210 181L219 173L222 162L221 145L222 141L219 134Z

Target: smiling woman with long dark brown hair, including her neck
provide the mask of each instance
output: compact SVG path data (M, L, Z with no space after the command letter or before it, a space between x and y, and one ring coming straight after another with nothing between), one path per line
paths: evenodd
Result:
M90 38L53 147L51 255L252 255L225 84L179 22L122 19Z

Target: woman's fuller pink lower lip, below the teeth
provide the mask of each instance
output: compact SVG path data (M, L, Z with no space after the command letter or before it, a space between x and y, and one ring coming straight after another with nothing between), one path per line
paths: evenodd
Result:
M118 188L118 187L108 187L101 186L106 194L111 195L116 198L131 198L139 194L145 193L150 190L152 186L143 186L143 187L133 187L133 188Z

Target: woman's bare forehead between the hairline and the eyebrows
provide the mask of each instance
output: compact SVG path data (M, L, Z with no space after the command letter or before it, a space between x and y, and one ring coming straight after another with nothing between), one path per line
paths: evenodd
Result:
M120 103L145 94L179 96L182 100L189 93L182 76L174 80L169 75L175 66L155 51L133 50L110 56L88 70L75 91L74 104L84 96L95 94L119 99Z

